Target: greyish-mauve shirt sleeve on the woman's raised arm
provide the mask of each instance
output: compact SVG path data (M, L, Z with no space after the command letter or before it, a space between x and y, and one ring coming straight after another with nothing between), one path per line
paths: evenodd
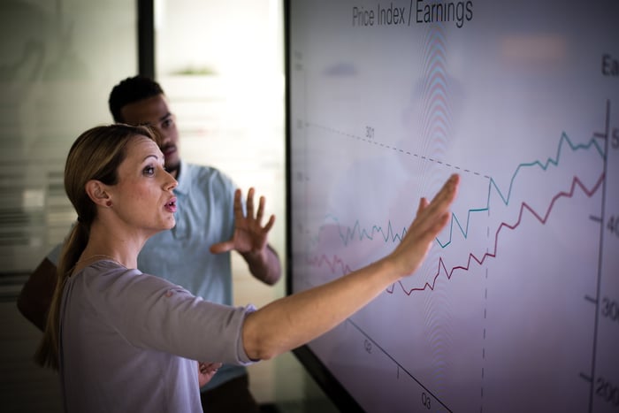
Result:
M255 307L232 307L190 294L165 279L117 269L85 277L88 301L132 345L193 360L247 365L242 325Z

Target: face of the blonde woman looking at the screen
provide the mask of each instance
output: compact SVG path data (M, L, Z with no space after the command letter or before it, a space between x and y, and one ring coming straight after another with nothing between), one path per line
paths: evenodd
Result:
M118 166L118 183L108 187L111 208L126 226L157 233L174 226L178 182L164 169L164 154L157 143L136 135L126 146Z

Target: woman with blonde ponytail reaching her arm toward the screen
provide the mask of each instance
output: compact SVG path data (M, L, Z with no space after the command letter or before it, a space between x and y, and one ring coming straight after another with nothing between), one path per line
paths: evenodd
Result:
M454 175L432 203L422 198L389 256L260 310L233 308L136 269L144 242L174 226L177 208L177 182L156 140L146 127L97 126L78 137L66 160L65 190L78 224L60 258L37 357L59 369L67 411L202 411L199 379L218 364L196 373L196 360L254 363L340 324L422 263L459 183Z

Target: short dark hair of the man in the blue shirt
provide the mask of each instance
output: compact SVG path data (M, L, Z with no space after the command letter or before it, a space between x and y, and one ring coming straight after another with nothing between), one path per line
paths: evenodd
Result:
M125 119L123 119L120 110L125 105L157 95L164 95L164 89L159 86L157 81L139 74L126 78L111 89L110 99L108 100L111 116L115 122L123 123Z

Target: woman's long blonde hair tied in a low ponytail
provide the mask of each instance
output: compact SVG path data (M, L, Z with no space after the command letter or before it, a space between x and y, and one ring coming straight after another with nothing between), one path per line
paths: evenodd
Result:
M50 304L45 332L34 354L36 363L58 370L60 305L66 279L86 248L90 226L96 218L96 205L86 193L88 180L106 185L118 183L118 166L126 158L126 145L135 136L146 136L161 143L160 135L147 126L114 124L96 126L80 134L65 163L65 192L77 212L78 222L65 240L57 266L56 288Z

